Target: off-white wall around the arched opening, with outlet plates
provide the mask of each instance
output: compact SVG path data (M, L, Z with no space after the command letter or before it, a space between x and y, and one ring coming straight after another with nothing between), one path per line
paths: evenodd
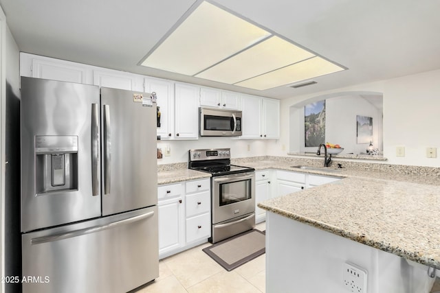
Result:
M289 124L290 108L348 93L383 93L384 96L384 156L386 163L439 167L440 159L426 158L426 148L434 147L439 152L440 131L438 112L440 109L440 70L408 75L391 80L349 86L310 95L281 100L281 125ZM285 155L282 145L296 143L298 133L291 128L281 128L281 138L270 154ZM397 146L406 148L404 157L397 157ZM291 148L290 150L295 150ZM440 154L439 154L440 155Z

